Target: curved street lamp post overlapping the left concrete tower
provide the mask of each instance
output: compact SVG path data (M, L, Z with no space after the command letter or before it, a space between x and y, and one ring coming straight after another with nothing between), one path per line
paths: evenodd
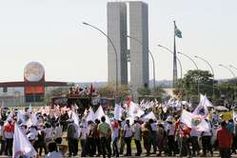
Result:
M115 82L116 82L116 93L117 93L117 91L118 91L118 53L117 53L117 50L115 48L114 43L112 42L112 39L104 31L102 31L98 27L96 27L94 25L91 25L91 24L89 24L87 22L83 22L82 24L87 25L87 26L89 26L89 27L99 31L100 33L102 33L109 40L111 46L113 47L114 53L115 53L115 58L116 58L115 59L115 66L116 66L116 81Z

